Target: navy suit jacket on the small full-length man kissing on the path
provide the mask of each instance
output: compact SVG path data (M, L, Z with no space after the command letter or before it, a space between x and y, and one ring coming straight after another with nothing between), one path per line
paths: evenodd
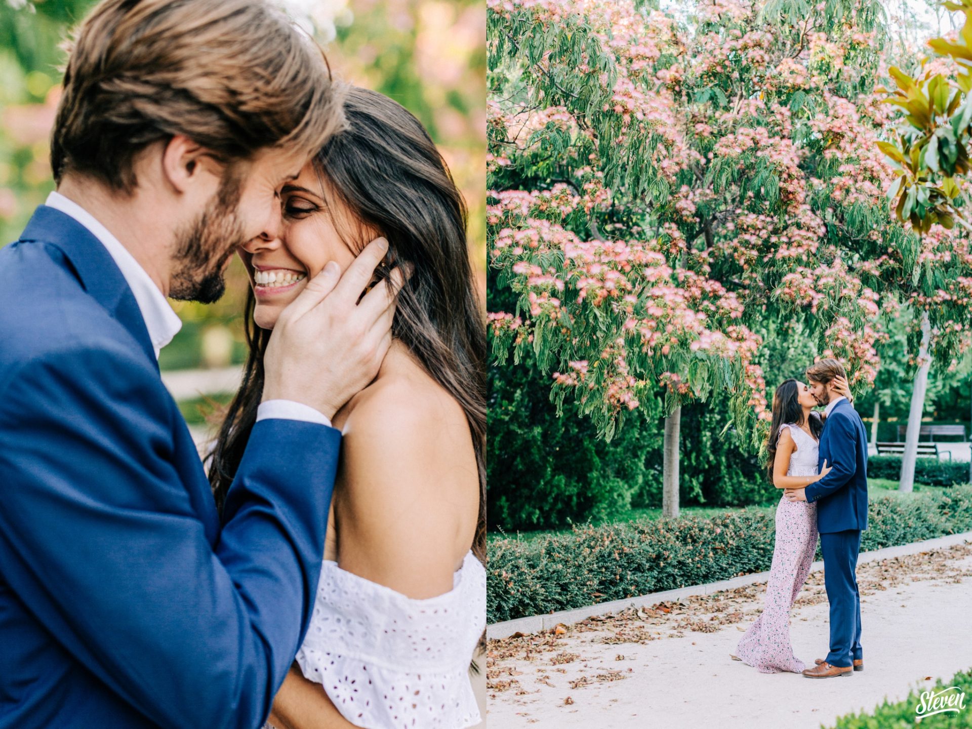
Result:
M860 415L844 399L834 405L820 435L819 465L833 467L804 491L816 503L818 532L867 529L867 432Z

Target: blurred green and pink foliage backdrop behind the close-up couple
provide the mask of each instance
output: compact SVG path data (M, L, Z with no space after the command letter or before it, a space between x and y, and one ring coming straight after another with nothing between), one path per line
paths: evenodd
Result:
M48 138L68 29L95 0L0 0L0 246L53 189ZM278 0L314 33L336 75L385 93L432 134L469 204L469 246L485 292L486 9L482 0ZM235 260L210 306L174 301L184 327L164 370L240 364L246 274ZM201 380L200 380L201 382ZM214 392L213 387L194 390ZM189 388L193 390L192 387ZM219 390L219 387L216 387ZM183 397L199 422L205 399ZM217 401L225 400L218 397ZM200 403L202 407L200 410Z

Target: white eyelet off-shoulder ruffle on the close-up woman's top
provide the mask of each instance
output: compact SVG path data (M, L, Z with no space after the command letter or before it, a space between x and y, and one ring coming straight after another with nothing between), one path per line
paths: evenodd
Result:
M486 571L471 550L449 592L415 600L325 560L296 661L352 724L464 729L481 717L469 660L486 627Z

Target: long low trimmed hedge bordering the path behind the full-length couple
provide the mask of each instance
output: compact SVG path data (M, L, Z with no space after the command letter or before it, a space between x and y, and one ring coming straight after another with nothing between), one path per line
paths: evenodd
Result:
M762 572L773 561L775 511L644 519L490 542L489 622ZM873 498L861 550L972 531L972 486ZM816 559L820 559L817 549Z

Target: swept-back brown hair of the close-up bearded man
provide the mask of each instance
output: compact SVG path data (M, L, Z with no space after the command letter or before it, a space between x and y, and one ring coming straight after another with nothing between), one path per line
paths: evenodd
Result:
M264 0L104 0L67 45L54 180L136 185L135 157L176 134L220 162L307 156L344 125L324 53Z

